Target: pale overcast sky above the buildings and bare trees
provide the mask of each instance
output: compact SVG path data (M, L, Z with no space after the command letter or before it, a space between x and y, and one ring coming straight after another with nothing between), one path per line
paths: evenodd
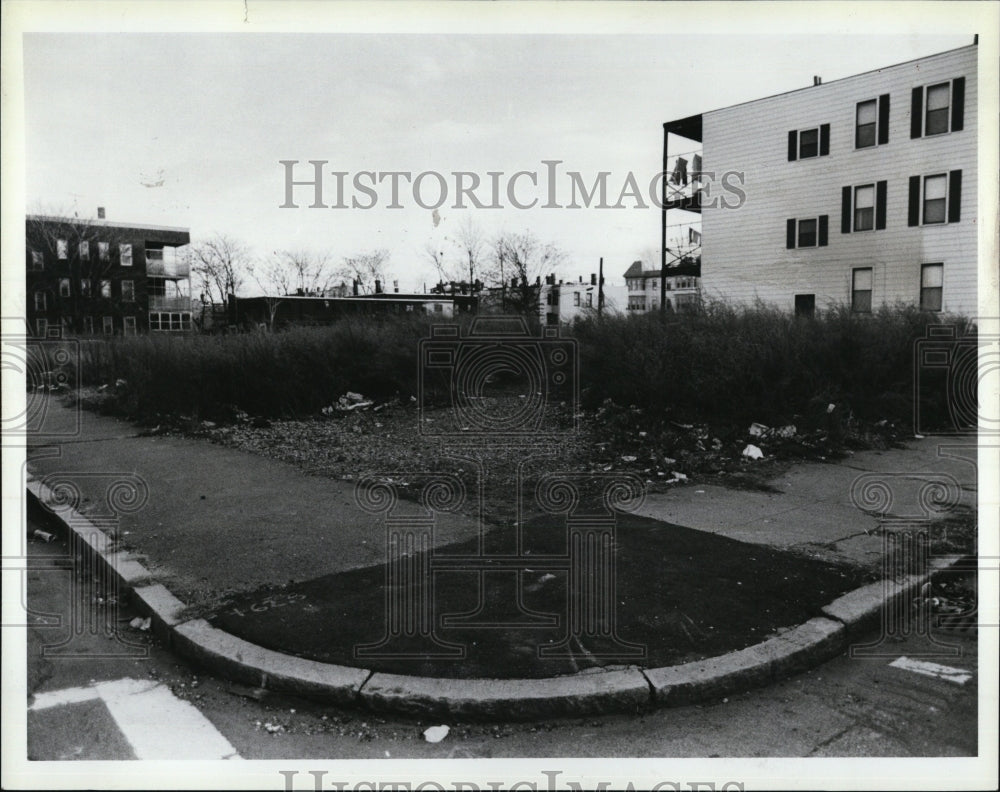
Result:
M483 233L529 230L565 253L576 279L603 257L609 282L658 249L660 212L635 199L618 209L544 209L545 160L558 160L557 203L569 171L588 186L608 172L608 203L629 173L645 190L662 156L664 121L806 87L970 44L970 35L384 35L328 33L29 33L24 37L26 206L29 212L186 226L193 242L225 233L258 258L282 250L335 261L390 253L402 291L436 281L428 246L471 220ZM311 187L285 201L285 166L347 208L309 208ZM506 195L519 177L517 209ZM362 171L443 174L435 214L405 180L376 205L353 189ZM456 171L489 172L504 208L456 208ZM366 179L367 177L359 177ZM471 177L463 177L466 184ZM368 184L366 180L364 182ZM418 194L436 203L439 182ZM645 203L649 203L648 200Z

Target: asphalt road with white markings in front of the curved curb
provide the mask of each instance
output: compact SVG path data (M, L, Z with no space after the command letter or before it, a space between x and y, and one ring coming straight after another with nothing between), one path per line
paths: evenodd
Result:
M29 535L38 527L29 520ZM925 658L964 672L957 676L926 675L919 672L926 669L900 661L926 648L925 640L910 636L884 643L883 656L844 655L766 689L698 706L539 723L450 723L448 736L432 744L423 731L435 722L321 705L202 673L141 624L130 626L136 614L112 601L113 592L95 593L86 575L72 575L60 540L36 540L28 547L31 759L163 754L232 760L953 757L977 752L975 630L937 636L956 646L959 656ZM96 630L72 629L74 603L81 606L77 622L80 613L98 614ZM104 630L108 624L117 627L114 634Z

